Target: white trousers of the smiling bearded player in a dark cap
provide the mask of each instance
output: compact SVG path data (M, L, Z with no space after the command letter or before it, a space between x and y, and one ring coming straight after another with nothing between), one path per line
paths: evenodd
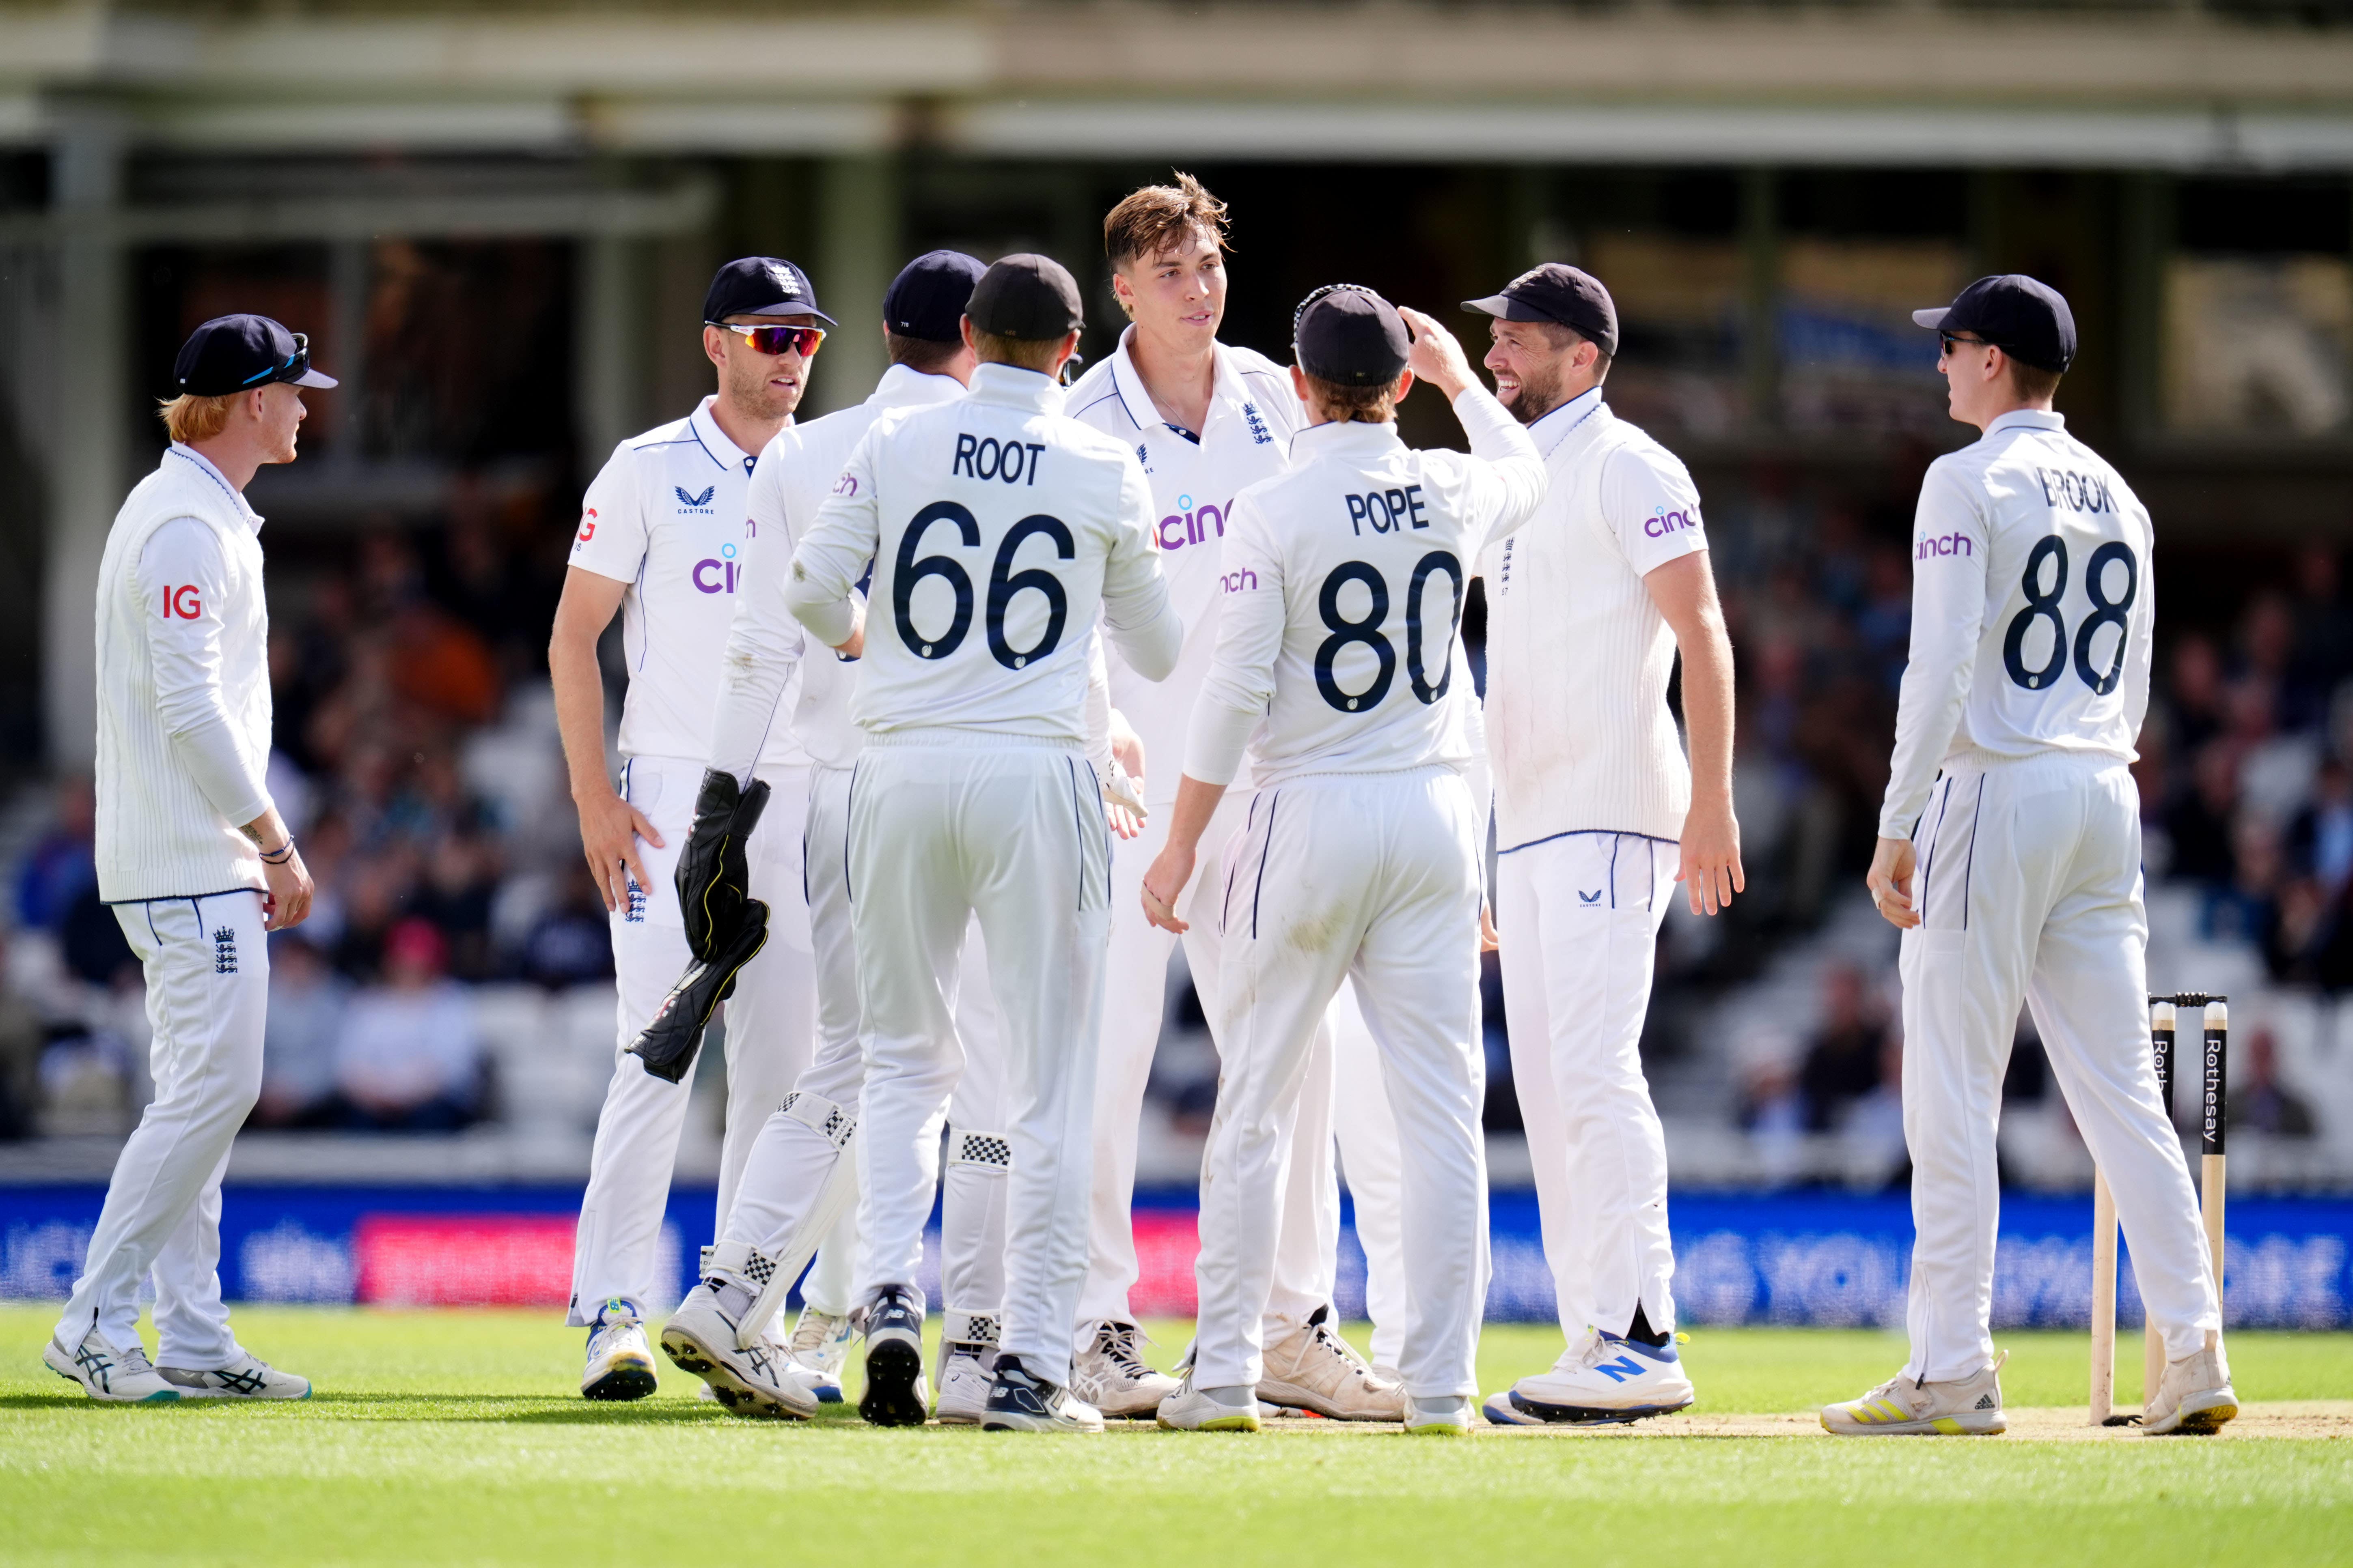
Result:
M1497 858L1494 926L1511 1081L1537 1171L1560 1331L1673 1333L1666 1131L1642 1077L1642 1018L1680 846L1567 832Z

